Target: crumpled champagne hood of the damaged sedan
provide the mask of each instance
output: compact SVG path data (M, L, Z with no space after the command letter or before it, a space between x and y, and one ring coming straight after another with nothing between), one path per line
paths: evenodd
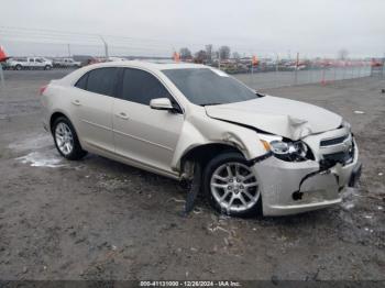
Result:
M337 129L342 118L323 108L265 96L249 101L207 106L209 117L256 128L290 140Z

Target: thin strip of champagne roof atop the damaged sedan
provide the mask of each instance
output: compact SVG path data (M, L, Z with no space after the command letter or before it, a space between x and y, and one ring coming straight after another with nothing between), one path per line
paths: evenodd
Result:
M201 64L190 64L190 63L156 63L156 62L145 62L145 60L118 60L118 62L106 62L91 64L90 68L101 68L101 67L136 67L146 69L186 69L186 68L211 68Z

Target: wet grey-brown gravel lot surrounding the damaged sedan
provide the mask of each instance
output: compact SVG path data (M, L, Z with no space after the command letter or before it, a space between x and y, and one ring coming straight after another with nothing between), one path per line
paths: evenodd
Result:
M62 159L38 88L65 70L6 71L0 90L1 279L385 279L385 88L362 78L265 92L352 123L364 165L341 206L231 219L178 182L96 155Z

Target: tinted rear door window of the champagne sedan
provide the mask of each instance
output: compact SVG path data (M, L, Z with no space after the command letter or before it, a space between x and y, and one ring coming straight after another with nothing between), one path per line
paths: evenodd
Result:
M99 68L89 71L87 77L85 76L79 79L76 87L81 89L86 87L87 91L95 93L114 96L118 85L118 68Z

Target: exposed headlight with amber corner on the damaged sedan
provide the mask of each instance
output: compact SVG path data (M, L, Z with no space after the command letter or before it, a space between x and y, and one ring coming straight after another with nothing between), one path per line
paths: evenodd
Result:
M266 147L266 143L268 143L274 156L282 160L302 162L314 158L310 148L302 141L288 141L280 136L258 135L264 146Z

